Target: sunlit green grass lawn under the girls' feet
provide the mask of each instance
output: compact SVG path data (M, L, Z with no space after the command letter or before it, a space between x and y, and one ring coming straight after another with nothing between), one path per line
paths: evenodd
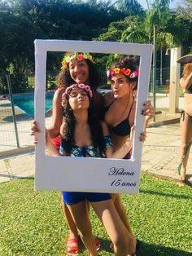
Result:
M64 255L68 226L59 192L35 192L33 178L0 183L0 255ZM137 256L192 255L192 190L142 174L137 196L123 195L133 232L141 241ZM90 213L100 255L112 255L102 224ZM81 245L81 254L88 255Z

